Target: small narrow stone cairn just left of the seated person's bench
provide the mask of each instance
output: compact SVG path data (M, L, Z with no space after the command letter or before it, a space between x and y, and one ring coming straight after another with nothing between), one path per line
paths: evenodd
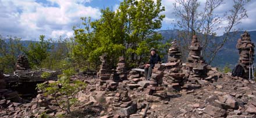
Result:
M118 80L126 80L127 79L127 72L125 67L125 58L119 57L119 61L116 67L116 73L118 75Z

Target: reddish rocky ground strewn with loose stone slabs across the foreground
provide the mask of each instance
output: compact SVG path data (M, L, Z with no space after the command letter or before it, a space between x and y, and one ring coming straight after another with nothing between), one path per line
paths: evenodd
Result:
M168 93L165 99L149 96L143 77L129 78L118 83L118 89L100 91L95 76L77 75L87 88L77 95L80 104L65 117L256 117L256 84L222 75L218 80L200 84L201 88ZM191 83L188 83L191 84ZM115 107L115 99L127 90L129 107ZM0 117L40 117L42 113L58 117L65 114L53 99L38 94L31 102L21 104L0 101ZM121 106L122 107L122 106Z

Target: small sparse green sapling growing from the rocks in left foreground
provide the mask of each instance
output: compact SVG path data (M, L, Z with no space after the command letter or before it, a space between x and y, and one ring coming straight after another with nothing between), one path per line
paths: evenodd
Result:
M54 83L41 83L37 84L37 89L44 92L55 99L59 104L59 108L70 113L70 107L76 104L76 94L86 87L86 84L80 80L70 80L70 75L74 74L74 69L67 69L59 75L59 80Z

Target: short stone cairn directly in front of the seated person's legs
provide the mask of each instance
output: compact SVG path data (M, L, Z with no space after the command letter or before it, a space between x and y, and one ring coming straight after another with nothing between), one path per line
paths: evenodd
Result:
M163 69L164 65L155 64L155 67L152 70L152 76L150 78L150 86L147 86L146 89L148 95L159 97L159 99L166 98L167 96L165 91L166 88L163 86L159 86L163 82Z

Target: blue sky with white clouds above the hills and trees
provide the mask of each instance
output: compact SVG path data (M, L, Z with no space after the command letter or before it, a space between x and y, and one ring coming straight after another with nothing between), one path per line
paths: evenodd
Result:
M0 0L0 35L17 36L23 40L37 40L39 35L47 38L63 38L73 36L73 26L81 25L80 17L99 19L101 9L118 9L121 0ZM205 0L200 0L203 5ZM172 29L176 23L173 14L175 0L162 0L166 17L163 19L161 30ZM256 1L247 6L248 18L243 19L235 28L247 31L256 30ZM232 1L216 9L223 14L232 8ZM225 25L223 22L221 25ZM223 31L218 31L219 35Z

